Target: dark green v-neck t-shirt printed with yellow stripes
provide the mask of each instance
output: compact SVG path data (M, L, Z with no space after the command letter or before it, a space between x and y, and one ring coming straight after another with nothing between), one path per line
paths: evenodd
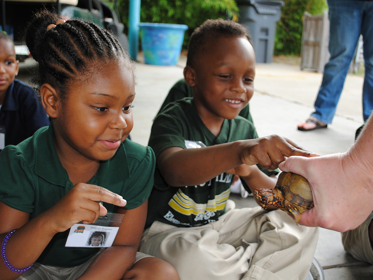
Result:
M149 146L157 158L169 147L198 148L257 137L253 123L241 116L225 119L219 136L215 136L198 116L193 99L186 97L169 103L156 116ZM192 227L218 220L225 213L232 179L232 174L222 173L199 186L172 187L156 168L145 227L154 221Z

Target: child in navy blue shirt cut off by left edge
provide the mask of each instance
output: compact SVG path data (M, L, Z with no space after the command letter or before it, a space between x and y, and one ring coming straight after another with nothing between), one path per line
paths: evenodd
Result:
M12 38L0 32L0 151L49 125L35 91L14 79L18 74L18 63Z

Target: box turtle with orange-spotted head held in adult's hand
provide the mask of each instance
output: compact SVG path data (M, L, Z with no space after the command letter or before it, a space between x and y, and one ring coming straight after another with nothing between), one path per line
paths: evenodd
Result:
M275 189L256 189L259 205L273 205L293 216L298 224L301 214L313 207L312 192L306 178L292 172L281 172Z

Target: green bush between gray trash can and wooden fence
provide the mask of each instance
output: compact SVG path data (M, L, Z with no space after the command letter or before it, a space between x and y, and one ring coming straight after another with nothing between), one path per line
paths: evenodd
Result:
M300 55L302 45L303 14L321 15L325 0L284 0L281 19L277 23L275 55Z

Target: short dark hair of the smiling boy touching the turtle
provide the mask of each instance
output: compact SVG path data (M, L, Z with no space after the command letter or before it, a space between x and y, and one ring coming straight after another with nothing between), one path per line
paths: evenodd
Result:
M194 29L190 37L186 65L192 66L194 57L204 50L203 46L209 41L218 37L240 36L246 37L253 44L249 31L243 25L221 18L207 19L207 21Z

